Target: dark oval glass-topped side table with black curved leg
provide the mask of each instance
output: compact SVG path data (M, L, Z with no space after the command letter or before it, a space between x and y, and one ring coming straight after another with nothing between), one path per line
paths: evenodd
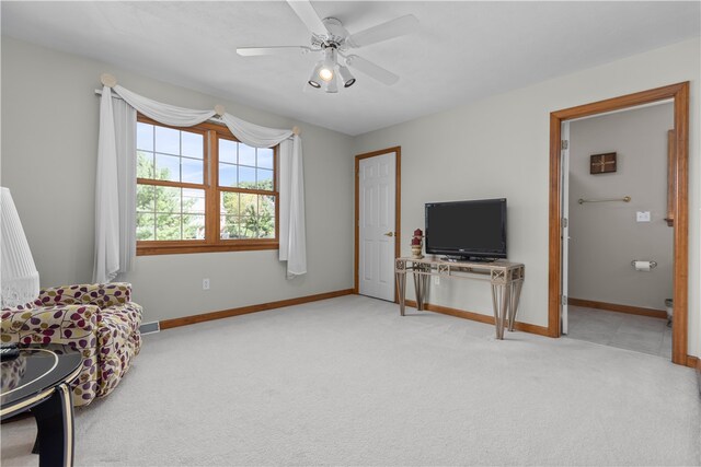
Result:
M81 354L68 346L22 348L2 361L2 420L31 410L36 419L39 466L73 464L73 400L69 383L80 373Z

